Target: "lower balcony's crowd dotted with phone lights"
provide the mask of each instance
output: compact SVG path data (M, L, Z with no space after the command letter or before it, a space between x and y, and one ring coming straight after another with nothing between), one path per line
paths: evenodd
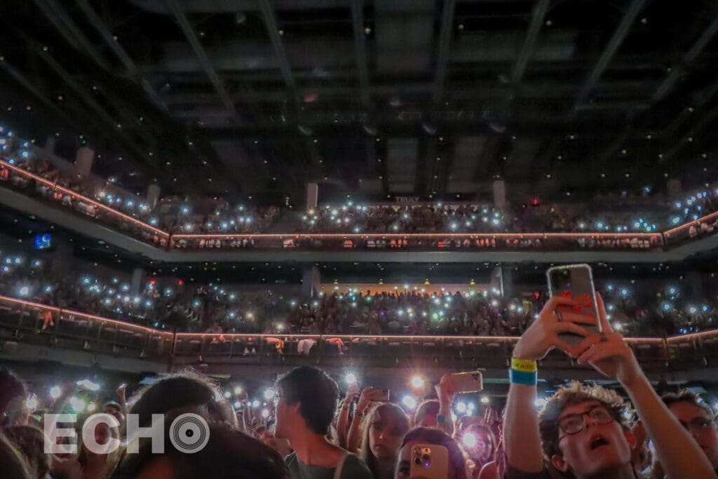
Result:
M314 297L185 284L164 277L131 279L81 263L70 270L18 254L0 256L0 294L139 325L190 332L321 335L518 336L546 302L545 292L503 297L498 287L426 292L395 287L371 292L338 285ZM716 327L717 297L699 298L682 282L661 289L600 282L609 319L625 335L666 337Z

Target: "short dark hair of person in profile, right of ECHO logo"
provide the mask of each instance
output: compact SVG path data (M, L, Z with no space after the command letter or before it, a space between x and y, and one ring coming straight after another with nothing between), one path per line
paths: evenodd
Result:
M307 428L316 434L327 434L339 399L339 386L319 368L300 366L277 381L286 404L299 402L299 414Z

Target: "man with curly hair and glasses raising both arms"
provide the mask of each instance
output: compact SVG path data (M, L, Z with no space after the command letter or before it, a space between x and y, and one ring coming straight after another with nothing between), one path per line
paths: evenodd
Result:
M586 317L573 312L579 306L574 299L552 297L518 340L504 417L505 478L543 479L549 477L550 468L577 479L638 477L631 455L636 440L624 414L628 404L615 391L572 383L559 389L538 414L534 406L536 361L553 348L564 350L578 358L579 364L589 364L623 386L668 478L717 478L689 432L651 387L623 336L612 330L599 294L596 302L600 333L589 333L581 326ZM583 339L578 344L567 343L559 336L567 332Z

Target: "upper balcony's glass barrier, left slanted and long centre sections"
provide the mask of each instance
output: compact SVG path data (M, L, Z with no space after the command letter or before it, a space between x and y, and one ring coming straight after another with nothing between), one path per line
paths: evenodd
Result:
M664 246L661 233L286 233L176 234L154 228L90 197L0 160L0 184L54 202L117 228L134 238L174 250L245 248L294 250L411 251L592 251L651 250ZM717 213L718 214L718 213ZM687 225L686 225L687 226Z

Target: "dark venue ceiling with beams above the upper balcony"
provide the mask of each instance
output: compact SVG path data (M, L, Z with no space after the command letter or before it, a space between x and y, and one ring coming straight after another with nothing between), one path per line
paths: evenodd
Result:
M484 199L500 178L525 200L716 174L714 1L32 0L0 17L0 118L70 157L82 134L95 172L135 190Z

